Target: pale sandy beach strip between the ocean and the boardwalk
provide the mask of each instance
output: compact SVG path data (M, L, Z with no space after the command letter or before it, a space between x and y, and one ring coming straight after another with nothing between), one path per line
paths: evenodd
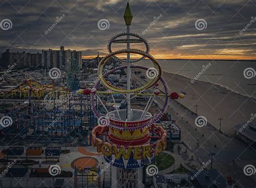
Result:
M221 117L221 131L224 133L234 134L233 126L247 122L251 115L256 113L256 100L253 98L210 82L195 80L191 83L191 79L178 74L164 72L163 77L169 85L170 92L186 92L185 98L178 99L178 102L193 112L196 112L195 105L198 105L198 115L205 116L217 129L218 119Z

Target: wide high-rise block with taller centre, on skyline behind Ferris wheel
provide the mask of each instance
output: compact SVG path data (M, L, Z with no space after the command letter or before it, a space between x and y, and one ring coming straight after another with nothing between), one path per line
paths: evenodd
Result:
M82 68L82 52L65 50L64 46L60 46L60 50L42 50L43 67L46 69L53 67L65 69L71 58L77 59L79 67Z

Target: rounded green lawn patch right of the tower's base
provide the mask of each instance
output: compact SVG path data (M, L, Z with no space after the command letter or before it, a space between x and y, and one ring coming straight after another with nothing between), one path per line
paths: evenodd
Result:
M164 154L164 153L161 153L156 158L157 158L157 168L159 171L169 168L175 162L174 158L171 155ZM153 160L152 164L156 164L155 159Z

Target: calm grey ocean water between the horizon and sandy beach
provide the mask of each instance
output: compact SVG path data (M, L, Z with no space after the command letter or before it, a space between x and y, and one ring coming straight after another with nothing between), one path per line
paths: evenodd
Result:
M158 60L158 62L165 72L215 83L256 99L256 61ZM143 60L137 64L153 67L151 60ZM244 75L245 69L247 71Z

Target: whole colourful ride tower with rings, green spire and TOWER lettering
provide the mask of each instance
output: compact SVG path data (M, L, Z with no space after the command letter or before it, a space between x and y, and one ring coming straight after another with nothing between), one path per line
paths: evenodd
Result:
M169 89L161 77L161 67L156 59L149 54L150 47L147 41L135 33L130 33L132 22L132 12L127 3L124 13L127 31L112 37L107 45L109 54L100 60L98 65L99 79L91 89L91 107L99 119L99 124L92 130L92 144L97 147L98 152L102 152L105 161L111 164L111 187L143 187L143 168L152 162L152 159L160 154L166 147L166 131L161 126L156 126L156 122L163 116L169 100ZM123 37L123 38L120 38ZM125 38L124 38L125 37ZM119 38L119 39L118 39ZM112 51L112 43L125 43L126 49ZM146 51L130 48L131 43L144 43ZM126 59L120 59L116 55L127 54ZM141 55L139 59L130 59L130 54ZM123 62L124 66L115 67L107 73L103 73L107 60L114 58ZM153 67L146 68L133 65L143 59L152 61ZM142 69L146 72L147 80L143 86L131 87L131 69ZM126 70L126 89L113 86L106 79L112 73L119 70ZM100 84L107 88L107 92L99 91ZM157 87L163 87L163 91ZM109 112L100 100L99 95L114 96L123 95L127 101L126 109L117 109ZM132 96L132 98L131 98ZM132 109L131 99L137 96L147 97L145 109ZM152 115L149 109L154 100L159 97L164 98L164 104L157 114ZM176 99L178 96L174 96ZM95 100L98 99L104 107L106 114L100 113L96 109Z

